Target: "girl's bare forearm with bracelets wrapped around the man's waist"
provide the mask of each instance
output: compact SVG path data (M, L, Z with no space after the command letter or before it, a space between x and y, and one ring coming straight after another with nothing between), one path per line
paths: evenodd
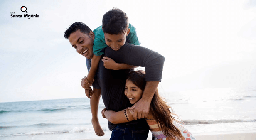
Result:
M104 112L105 111L105 112ZM122 111L111 111L111 110L106 110L105 108L101 111L103 118L105 117L108 119L113 124L118 124L118 123L126 123L134 120L133 115L130 113L129 109L126 109L126 115L124 113L125 110ZM131 110L132 111L132 110ZM127 118L126 118L127 116Z

